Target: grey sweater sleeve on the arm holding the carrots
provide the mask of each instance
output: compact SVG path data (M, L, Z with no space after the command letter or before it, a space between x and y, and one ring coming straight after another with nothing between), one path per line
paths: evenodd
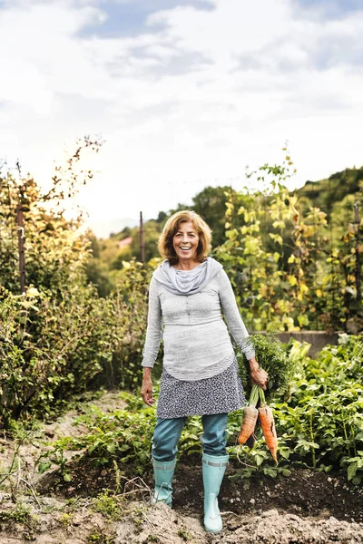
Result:
M228 328L240 351L250 361L256 354L249 333L240 316L236 297L234 296L230 278L224 270L219 275L220 280L220 301L223 314L226 318Z

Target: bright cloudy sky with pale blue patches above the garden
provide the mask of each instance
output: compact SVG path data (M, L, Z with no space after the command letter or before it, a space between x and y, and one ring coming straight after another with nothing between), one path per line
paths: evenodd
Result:
M360 167L362 35L363 0L0 0L0 160L45 187L101 135L96 234L241 189L285 141L294 186Z

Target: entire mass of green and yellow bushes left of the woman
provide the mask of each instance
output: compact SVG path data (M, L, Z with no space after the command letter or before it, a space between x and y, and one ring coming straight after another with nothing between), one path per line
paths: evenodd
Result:
M77 142L65 166L56 167L48 193L31 178L0 176L0 426L46 417L90 386L132 389L141 381L152 266L123 263L107 298L98 296L110 287L102 271L93 270L93 280L102 279L97 287L88 283L91 252L98 256L101 249L92 233L83 232L82 214L64 214L64 200L92 177L77 164L84 148L98 151L99 142ZM24 213L22 295L14 238L18 204Z

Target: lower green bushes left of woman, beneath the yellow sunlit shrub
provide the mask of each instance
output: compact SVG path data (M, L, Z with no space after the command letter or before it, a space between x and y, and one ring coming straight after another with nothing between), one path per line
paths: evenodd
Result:
M149 271L132 262L107 299L90 286L69 287L58 301L34 287L23 296L0 289L3 424L45 416L90 384L136 388L148 283Z

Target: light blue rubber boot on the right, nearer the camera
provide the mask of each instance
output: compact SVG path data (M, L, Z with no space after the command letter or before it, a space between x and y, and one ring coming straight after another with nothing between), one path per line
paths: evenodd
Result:
M203 453L204 528L208 532L221 532L222 522L218 508L221 481L229 460L228 455L214 456Z

